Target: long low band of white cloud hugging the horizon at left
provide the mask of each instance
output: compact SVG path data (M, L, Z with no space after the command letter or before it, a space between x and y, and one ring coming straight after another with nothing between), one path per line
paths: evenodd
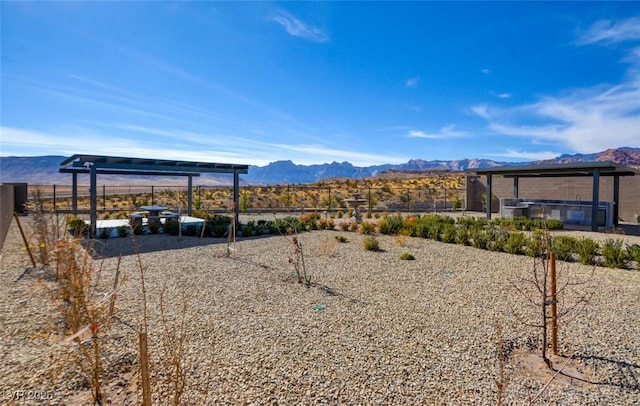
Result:
M0 153L2 156L94 154L259 166L279 160L292 160L302 165L349 161L356 166L402 163L409 160L405 156L368 154L323 145L273 144L223 134L198 134L132 125L118 125L118 128L128 132L104 135L84 128L68 128L47 133L0 127ZM153 135L156 139L151 141L141 134ZM185 142L182 139L181 143L167 142L167 139L181 137L187 137L188 140Z

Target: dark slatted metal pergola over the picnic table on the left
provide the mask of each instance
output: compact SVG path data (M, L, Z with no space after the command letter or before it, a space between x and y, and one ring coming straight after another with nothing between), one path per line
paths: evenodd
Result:
M75 154L60 163L61 173L72 176L72 212L78 211L78 174L89 175L90 227L92 236L97 224L97 177L102 175L183 176L187 178L187 214L192 211L193 177L201 173L233 174L234 217L238 224L240 174L249 171L249 165L213 162L173 161L150 158L125 158L103 155Z

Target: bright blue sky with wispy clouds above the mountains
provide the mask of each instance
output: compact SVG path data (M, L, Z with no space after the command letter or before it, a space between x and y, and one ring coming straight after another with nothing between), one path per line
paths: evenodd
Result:
M2 1L0 155L266 165L640 146L640 2Z

